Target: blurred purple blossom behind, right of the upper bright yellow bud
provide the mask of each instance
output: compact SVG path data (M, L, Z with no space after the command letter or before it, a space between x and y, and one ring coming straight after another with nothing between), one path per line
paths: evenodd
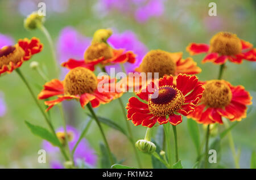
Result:
M125 31L123 33L113 33L109 37L108 43L115 49L131 50L137 55L136 62L134 64L125 63L126 72L133 72L136 67L141 64L143 56L147 53L147 47L138 40L138 37L132 31ZM106 70L109 72L110 68L115 68L117 72L121 71L119 65L107 66Z

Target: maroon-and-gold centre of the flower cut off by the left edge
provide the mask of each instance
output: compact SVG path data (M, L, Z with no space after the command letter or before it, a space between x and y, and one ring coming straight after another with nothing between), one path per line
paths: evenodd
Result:
M24 56L25 52L19 45L4 46L0 49L0 68L8 66L10 62L17 63Z

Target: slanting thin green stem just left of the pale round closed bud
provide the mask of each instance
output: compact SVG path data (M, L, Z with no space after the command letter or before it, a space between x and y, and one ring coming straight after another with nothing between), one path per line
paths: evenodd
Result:
M139 157L138 150L135 147L135 141L134 141L134 137L133 137L133 132L131 131L131 126L129 124L129 121L127 121L126 110L125 110L125 106L123 105L123 101L122 101L121 97L118 98L118 101L119 101L119 104L121 105L122 112L123 112L123 117L125 119L127 130L128 130L128 133L129 133L129 137L127 137L127 138L130 140L130 142L132 144L132 147L134 149L136 160L138 162L139 168L142 168L141 158Z

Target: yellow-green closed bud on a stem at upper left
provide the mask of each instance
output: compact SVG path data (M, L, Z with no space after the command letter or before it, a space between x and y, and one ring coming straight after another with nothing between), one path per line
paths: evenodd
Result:
M39 15L38 12L32 12L24 19L24 27L28 30L34 30L44 23L44 16Z

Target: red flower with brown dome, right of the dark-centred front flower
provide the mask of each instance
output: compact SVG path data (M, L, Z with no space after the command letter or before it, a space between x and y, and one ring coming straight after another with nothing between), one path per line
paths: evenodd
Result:
M246 105L252 103L252 97L242 85L233 86L225 80L209 80L203 84L203 97L189 118L207 125L222 124L222 117L230 121L241 121L246 117Z

